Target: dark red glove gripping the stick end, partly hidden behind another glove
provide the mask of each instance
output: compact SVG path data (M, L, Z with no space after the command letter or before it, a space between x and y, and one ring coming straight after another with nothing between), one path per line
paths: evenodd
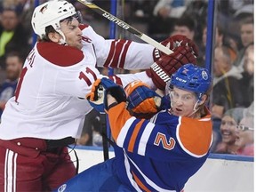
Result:
M171 49L173 52L175 49L179 46L188 46L191 49L191 52L194 54L195 57L198 57L198 48L196 44L187 38L187 36L170 36L167 39L165 39L163 42L161 42L164 46ZM164 52L159 51L158 49L154 49L153 51L153 58L154 61L159 60L161 56L165 55Z

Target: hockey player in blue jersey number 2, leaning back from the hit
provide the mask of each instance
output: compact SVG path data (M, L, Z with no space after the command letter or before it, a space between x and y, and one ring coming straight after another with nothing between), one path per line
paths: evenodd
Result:
M97 101L99 83L105 88L104 108L116 143L115 157L81 172L59 191L182 191L204 164L212 144L206 108L212 84L208 70L193 64L179 68L166 86L171 102L164 108L146 84L129 84L125 93L107 78L94 83L92 101ZM132 114L156 115L132 116L126 95Z

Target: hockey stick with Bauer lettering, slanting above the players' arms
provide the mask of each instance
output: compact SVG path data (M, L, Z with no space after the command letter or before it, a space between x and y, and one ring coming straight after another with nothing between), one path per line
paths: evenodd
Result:
M138 36L141 40L143 40L144 42L146 42L148 44L151 44L152 46L156 47L156 49L160 50L161 52L164 52L165 54L168 54L168 55L172 53L172 50L165 47L163 44L159 44L158 42L156 42L156 40L154 40L151 37L143 34L139 30L137 30L136 28L132 28L132 26L130 26L129 24L127 24L123 20L119 20L114 15L112 15L109 12L106 12L105 10L101 9L96 4L89 3L86 0L77 0L77 1L80 2L81 4L84 4L85 6L89 7L94 12L99 13L100 15L107 18L108 20L111 20L111 21L115 22L116 25L118 25L119 27L124 28L125 30L129 31L130 33L132 33L135 36Z

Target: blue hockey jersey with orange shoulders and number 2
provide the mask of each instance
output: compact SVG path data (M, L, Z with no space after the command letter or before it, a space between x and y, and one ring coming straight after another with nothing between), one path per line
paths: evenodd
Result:
M212 144L212 121L173 116L164 110L151 118L136 119L120 103L108 110L117 147L116 172L136 191L180 191L204 164Z

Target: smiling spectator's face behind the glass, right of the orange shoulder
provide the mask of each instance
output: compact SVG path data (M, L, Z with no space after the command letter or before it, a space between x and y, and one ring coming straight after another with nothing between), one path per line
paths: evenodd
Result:
M222 141L234 144L236 141L236 121L231 116L223 116L220 124Z

